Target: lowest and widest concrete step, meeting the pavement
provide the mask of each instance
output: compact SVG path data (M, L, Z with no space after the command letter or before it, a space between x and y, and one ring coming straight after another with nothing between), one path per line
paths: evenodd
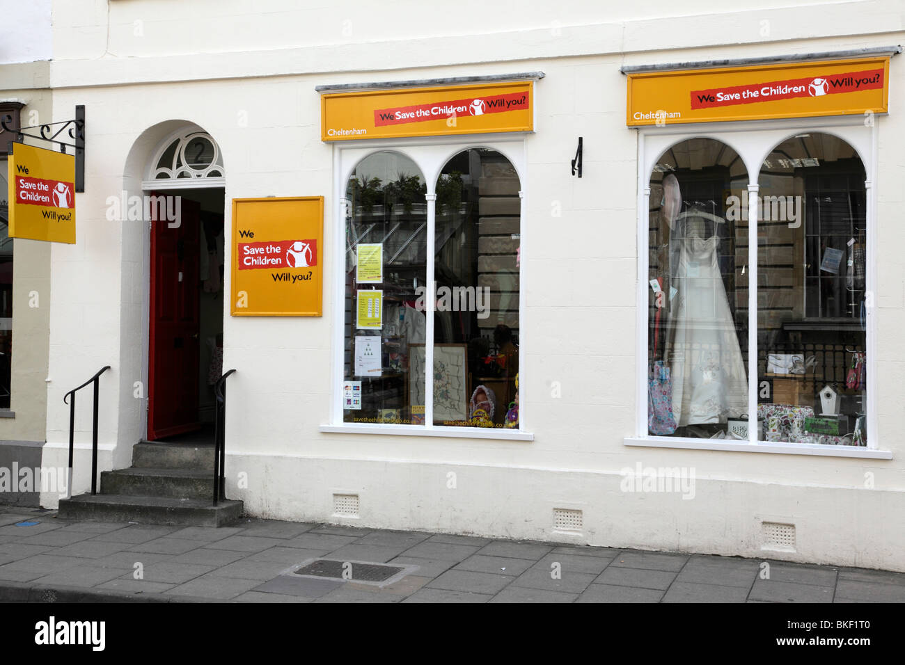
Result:
M242 515L242 501L81 494L60 499L59 516L82 522L138 522L185 527L223 527Z

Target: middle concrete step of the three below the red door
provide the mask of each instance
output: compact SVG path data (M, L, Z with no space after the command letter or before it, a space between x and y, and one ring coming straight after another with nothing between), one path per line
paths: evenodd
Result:
M213 499L214 472L132 467L100 473L101 494L171 499Z

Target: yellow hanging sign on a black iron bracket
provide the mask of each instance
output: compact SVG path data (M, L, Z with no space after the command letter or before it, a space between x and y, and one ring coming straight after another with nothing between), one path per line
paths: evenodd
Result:
M14 143L7 160L9 237L75 243L75 157Z

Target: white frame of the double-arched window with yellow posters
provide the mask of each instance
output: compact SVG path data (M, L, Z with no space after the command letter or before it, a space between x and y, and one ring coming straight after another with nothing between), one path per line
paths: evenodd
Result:
M472 147L485 147L496 150L503 157L510 160L519 176L519 198L521 201L519 210L519 246L525 250L528 247L526 238L525 210L527 209L527 195L525 183L527 182L527 155L525 147L525 135L523 133L510 134L482 134L480 136L444 137L438 138L406 138L406 139L380 139L362 141L342 141L333 145L333 204L331 217L333 220L333 279L332 303L333 303L333 347L331 368L331 399L329 423L319 427L320 432L339 433L368 433L391 434L395 436L444 436L467 439L500 439L510 441L533 441L534 434L526 430L526 420L522 410L519 409L519 429L484 428L484 427L458 427L433 424L433 373L425 372L427 385L425 386L424 425L403 425L394 423L344 423L342 391L344 372L344 339L345 334L345 307L342 305L346 298L345 271L346 265L346 187L348 178L358 162L377 152L396 152L411 159L415 166L421 170L427 187L427 256L433 257L434 242L434 202L436 199L437 178L443 171L443 166L455 155ZM434 292L433 261L427 261L427 290ZM525 312L525 284L523 273L519 269L519 333L521 321ZM427 310L425 340L430 344L424 345L424 366L433 366L433 311L436 303L432 298L425 298ZM520 334L519 334L520 343ZM524 369L519 366L519 404L525 404Z

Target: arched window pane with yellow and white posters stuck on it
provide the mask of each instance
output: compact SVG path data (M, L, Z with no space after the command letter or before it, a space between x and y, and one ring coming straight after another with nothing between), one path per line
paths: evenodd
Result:
M343 420L423 424L427 192L408 157L377 152L346 188L346 317ZM419 307L420 305L420 307ZM415 369L417 369L415 367Z

